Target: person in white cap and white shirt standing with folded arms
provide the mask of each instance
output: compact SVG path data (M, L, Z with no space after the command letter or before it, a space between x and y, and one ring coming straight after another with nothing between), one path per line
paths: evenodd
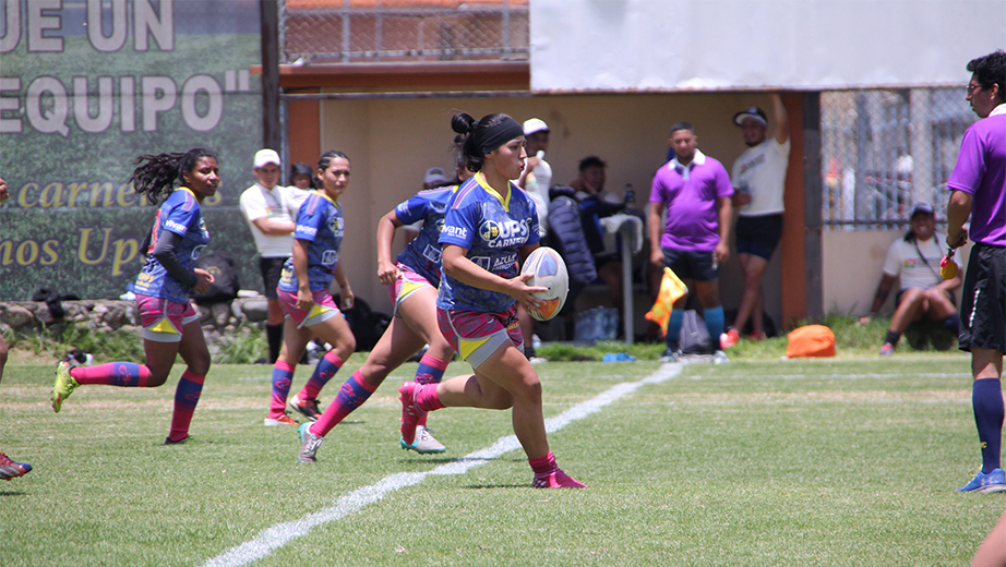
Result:
M276 294L283 264L292 255L294 229L299 200L279 185L279 154L260 149L255 154L254 174L259 181L241 194L241 213L259 250L259 269L265 285L268 315L265 333L268 338L268 361L275 363L283 345L283 307Z

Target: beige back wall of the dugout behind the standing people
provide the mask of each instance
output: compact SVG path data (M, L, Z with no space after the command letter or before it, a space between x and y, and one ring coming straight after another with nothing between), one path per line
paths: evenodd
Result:
M376 278L376 221L421 189L428 168L453 170L451 117L455 110L476 119L490 112L506 112L518 121L541 118L551 129L547 160L553 184L572 181L579 159L597 155L608 162L606 189L621 195L625 184L632 183L642 206L648 201L654 171L664 161L672 123L692 122L699 149L722 161L729 172L745 148L731 118L751 105L771 108L765 94L327 100L321 110L320 149L342 149L352 161L352 182L343 197L344 269L356 294L374 309L391 312L391 301ZM400 245L402 239L396 238L396 253ZM777 253L766 277L766 311L777 324L781 317L779 272ZM735 309L743 286L735 261L723 266L721 279L724 306ZM637 331L646 326L639 319Z

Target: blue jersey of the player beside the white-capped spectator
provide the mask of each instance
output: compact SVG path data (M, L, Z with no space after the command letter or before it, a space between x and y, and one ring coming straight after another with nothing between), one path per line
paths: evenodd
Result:
M300 205L297 215L296 240L308 240L308 280L311 291L328 289L339 262L339 245L343 243L343 207L323 191L315 191ZM279 289L297 293L297 276L294 258L283 265Z

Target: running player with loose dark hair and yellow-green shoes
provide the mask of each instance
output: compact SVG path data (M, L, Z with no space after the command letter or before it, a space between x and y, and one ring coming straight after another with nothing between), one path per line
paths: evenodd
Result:
M52 386L52 409L59 412L74 388L86 384L120 387L156 387L168 378L177 355L185 372L175 393L175 412L166 445L189 438L189 424L209 370L209 350L199 316L189 303L189 291L208 291L213 276L195 267L209 243L200 205L216 194L220 170L216 154L193 148L184 154L165 153L136 158L129 181L152 205L161 201L145 246L146 260L130 286L143 323L146 364L110 362L98 366L71 366L60 361ZM142 165L141 165L142 164Z

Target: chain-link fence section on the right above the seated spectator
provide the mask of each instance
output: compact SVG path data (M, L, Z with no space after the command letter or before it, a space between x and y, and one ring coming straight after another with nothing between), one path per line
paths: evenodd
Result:
M920 201L945 220L946 182L975 120L963 88L822 93L825 226L905 226Z

